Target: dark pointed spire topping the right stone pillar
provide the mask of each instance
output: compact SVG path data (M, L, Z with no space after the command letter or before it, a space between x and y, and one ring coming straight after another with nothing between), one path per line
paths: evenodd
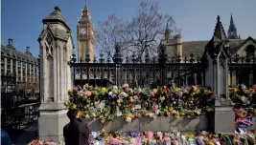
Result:
M221 23L221 17L218 15L217 17L217 23L214 30L214 36L220 40L226 39L225 31L223 29L222 23Z

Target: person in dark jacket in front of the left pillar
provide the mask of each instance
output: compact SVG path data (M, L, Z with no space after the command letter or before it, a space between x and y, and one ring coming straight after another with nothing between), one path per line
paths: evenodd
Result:
M78 117L78 110L69 110L70 122L64 126L65 145L88 145L90 131L87 124Z

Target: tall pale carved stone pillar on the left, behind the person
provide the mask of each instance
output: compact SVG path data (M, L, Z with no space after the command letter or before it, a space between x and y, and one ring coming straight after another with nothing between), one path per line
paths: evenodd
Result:
M71 30L60 9L46 16L40 44L40 117L38 132L41 139L62 140L63 126L69 121L64 101L68 89L73 87L72 69L69 61L73 53Z

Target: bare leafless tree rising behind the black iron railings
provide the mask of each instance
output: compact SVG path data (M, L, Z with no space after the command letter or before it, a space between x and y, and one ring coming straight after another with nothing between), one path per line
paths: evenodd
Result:
M157 1L144 0L131 20L124 21L112 14L105 22L100 22L96 43L110 57L113 57L114 46L118 43L126 55L135 52L137 59L141 60L145 52L152 56L156 54L167 25L171 32L177 31L175 20L160 12Z

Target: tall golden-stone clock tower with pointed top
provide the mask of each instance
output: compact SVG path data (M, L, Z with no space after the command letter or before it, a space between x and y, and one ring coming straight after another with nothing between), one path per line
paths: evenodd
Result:
M85 62L86 55L89 54L90 62L94 60L94 28L91 23L90 11L87 7L87 1L83 10L81 10L81 19L77 25L78 38L78 59Z

